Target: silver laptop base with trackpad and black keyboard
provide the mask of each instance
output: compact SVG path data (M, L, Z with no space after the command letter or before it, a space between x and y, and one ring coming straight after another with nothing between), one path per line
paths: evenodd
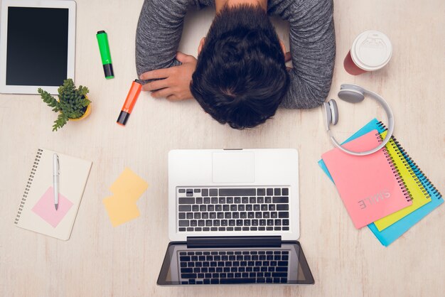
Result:
M291 148L170 151L169 238L298 239L298 168Z

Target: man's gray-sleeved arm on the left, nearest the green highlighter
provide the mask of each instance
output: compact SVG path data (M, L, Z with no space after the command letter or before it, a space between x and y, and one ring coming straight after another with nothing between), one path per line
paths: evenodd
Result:
M176 51L183 31L188 0L145 0L136 29L136 70L147 71L180 65Z

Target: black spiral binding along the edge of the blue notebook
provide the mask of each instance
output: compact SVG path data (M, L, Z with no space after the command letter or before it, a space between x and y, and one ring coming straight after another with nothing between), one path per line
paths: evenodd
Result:
M386 129L385 124L383 124L381 121L378 123L378 125L382 129ZM397 141L397 139L394 136L392 136L391 138L394 141L395 146L397 146L397 148L399 148L398 151L400 151L400 153L396 150L397 155L402 157L401 159L403 160L403 163L409 169L409 173L412 175L412 177L416 181L417 185L419 185L419 187L421 188L422 193L426 193L427 198L431 198L431 194L432 194L432 195L437 195L438 196L437 198L441 199L442 195L439 192L439 190L437 190L437 188L434 186L434 184L431 183L431 180L429 180L429 178L427 178L427 175L425 175L423 173L423 171L419 168L419 166L417 166L417 163L415 163L412 160L412 158L408 155L407 151L405 151L405 149L402 147L400 142ZM429 193L428 190L430 190L431 193Z

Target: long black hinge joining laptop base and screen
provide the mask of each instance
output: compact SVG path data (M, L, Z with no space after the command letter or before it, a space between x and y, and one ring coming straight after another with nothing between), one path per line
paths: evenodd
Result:
M281 247L281 236L187 237L187 247Z

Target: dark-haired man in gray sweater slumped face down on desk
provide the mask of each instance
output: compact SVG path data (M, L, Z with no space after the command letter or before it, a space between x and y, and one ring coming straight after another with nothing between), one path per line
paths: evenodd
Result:
M215 6L198 60L177 52L191 7ZM267 16L290 23L286 53ZM145 0L136 31L136 68L153 97L195 97L221 124L243 129L278 107L318 107L331 87L336 53L332 0ZM293 68L286 69L292 60Z

